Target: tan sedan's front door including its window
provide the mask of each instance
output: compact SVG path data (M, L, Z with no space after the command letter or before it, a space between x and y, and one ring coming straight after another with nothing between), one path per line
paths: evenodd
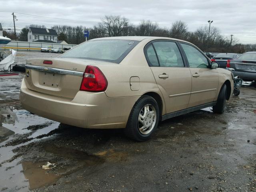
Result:
M188 107L213 102L218 90L218 70L210 68L210 61L196 47L180 43L192 74L192 90Z

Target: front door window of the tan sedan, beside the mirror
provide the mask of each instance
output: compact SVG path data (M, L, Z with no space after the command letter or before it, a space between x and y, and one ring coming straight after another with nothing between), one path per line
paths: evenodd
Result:
M181 43L181 46L187 56L189 67L208 68L208 59L200 51L188 44Z

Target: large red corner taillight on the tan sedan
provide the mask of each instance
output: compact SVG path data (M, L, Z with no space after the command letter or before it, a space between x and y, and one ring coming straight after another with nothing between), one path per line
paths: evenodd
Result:
M80 91L101 92L108 87L108 81L101 70L92 65L85 68Z

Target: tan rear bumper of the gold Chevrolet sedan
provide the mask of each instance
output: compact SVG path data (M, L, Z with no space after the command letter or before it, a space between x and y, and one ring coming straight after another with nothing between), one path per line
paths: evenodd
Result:
M125 128L134 103L140 96L109 98L104 92L78 91L74 99L20 89L24 109L64 124L82 128Z

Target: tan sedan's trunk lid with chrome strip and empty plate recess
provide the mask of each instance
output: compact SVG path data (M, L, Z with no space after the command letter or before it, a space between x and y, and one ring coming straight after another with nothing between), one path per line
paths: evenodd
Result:
M44 60L52 64L44 64ZM45 62L51 63L51 62ZM63 98L74 98L80 90L87 65L108 64L108 62L74 58L28 59L26 65L26 86L28 89Z

